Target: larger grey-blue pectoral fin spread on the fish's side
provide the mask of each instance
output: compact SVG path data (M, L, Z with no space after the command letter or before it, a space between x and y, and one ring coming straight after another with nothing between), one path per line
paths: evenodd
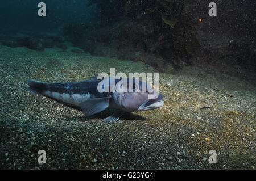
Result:
M86 100L81 102L79 106L82 109L82 112L85 116L94 115L98 112L101 112L109 107L109 100L112 97L109 96L108 98L96 98L91 100Z

